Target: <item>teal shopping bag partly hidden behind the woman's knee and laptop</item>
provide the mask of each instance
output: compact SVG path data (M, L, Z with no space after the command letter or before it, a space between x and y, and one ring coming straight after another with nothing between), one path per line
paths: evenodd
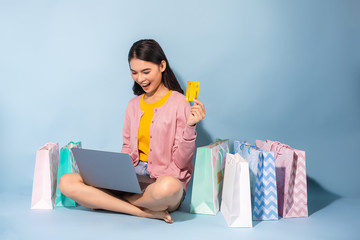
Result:
M66 146L62 147L60 150L59 170L58 170L57 188L56 188L56 201L55 201L55 206L57 207L76 206L74 200L66 197L59 190L59 180L64 174L79 172L79 168L76 164L76 161L71 151L72 148L81 148L81 142L69 142Z

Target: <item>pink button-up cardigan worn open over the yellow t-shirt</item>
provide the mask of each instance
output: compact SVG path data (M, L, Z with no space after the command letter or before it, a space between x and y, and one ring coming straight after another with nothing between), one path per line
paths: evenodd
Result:
M139 162L138 131L144 113L140 109L140 98L137 96L130 100L123 127L121 152L131 156L134 166ZM192 157L196 139L195 126L186 124L190 104L183 94L173 91L169 99L154 111L148 158L150 177L176 177L186 191L193 172Z

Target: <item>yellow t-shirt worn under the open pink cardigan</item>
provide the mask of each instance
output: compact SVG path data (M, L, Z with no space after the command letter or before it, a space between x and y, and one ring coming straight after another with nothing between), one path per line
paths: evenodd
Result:
M140 99L140 109L144 111L140 119L139 125L139 159L141 161L147 162L149 155L149 145L150 145L150 125L152 118L154 117L155 108L161 107L169 98L172 91L169 91L165 96L163 96L159 101L154 103L147 103L144 101L144 95Z

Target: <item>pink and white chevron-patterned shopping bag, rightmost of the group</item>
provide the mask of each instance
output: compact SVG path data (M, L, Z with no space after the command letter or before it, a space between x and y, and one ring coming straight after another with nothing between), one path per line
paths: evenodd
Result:
M283 218L307 217L305 151L270 140L256 140L255 144L275 153L279 215Z

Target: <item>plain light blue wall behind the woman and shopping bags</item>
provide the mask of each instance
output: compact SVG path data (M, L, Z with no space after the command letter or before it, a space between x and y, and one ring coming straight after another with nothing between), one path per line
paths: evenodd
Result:
M0 1L0 189L31 191L36 150L120 151L127 53L154 38L200 81L216 137L279 140L325 189L359 197L359 1ZM356 186L356 187L355 187Z

